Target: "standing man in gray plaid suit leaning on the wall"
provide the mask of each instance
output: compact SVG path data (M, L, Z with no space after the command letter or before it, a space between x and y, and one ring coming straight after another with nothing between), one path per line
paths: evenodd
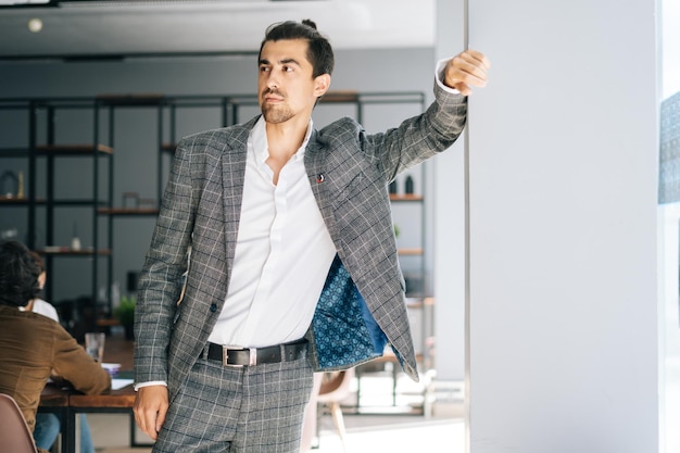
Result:
M154 452L297 452L313 372L388 343L417 379L387 186L455 141L489 62L442 62L432 105L376 135L314 129L332 66L313 22L275 24L262 115L178 143L136 310L135 416Z

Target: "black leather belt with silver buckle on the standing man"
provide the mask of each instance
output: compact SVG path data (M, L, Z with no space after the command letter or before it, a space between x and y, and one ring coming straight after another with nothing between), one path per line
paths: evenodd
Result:
M222 362L225 366L254 366L263 363L290 362L304 357L306 351L307 340L304 339L275 347L250 349L207 343L207 358Z

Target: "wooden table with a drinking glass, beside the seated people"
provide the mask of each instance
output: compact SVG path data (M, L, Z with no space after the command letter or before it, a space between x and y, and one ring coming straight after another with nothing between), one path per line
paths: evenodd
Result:
M104 344L104 362L119 363L122 372L114 378L133 377L134 342L122 337L106 337ZM135 419L131 417L135 404L135 389L131 385L119 390L111 390L105 394L83 394L71 387L54 383L46 386L40 394L40 412L51 412L61 418L62 453L76 451L76 417L80 413L127 413L130 414L130 443L135 440Z

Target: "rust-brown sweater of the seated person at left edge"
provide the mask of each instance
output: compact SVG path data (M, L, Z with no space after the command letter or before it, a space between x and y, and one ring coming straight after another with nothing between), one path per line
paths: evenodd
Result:
M109 374L59 323L0 305L0 393L16 400L32 430L52 372L87 394L111 389Z

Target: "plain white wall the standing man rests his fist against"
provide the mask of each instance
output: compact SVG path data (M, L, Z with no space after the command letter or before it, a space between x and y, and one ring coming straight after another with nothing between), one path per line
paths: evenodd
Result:
M469 451L657 452L655 3L469 21Z

